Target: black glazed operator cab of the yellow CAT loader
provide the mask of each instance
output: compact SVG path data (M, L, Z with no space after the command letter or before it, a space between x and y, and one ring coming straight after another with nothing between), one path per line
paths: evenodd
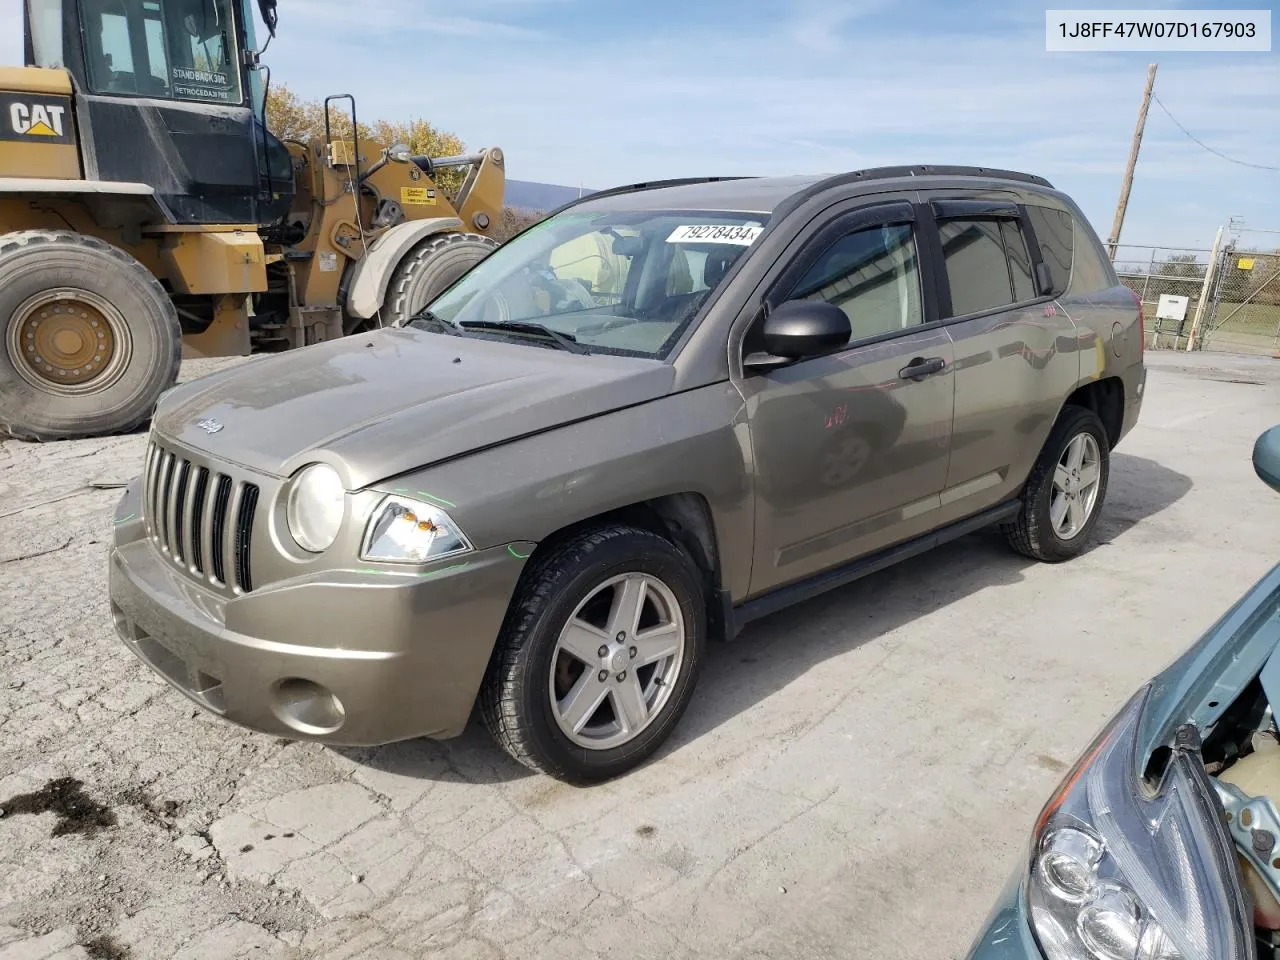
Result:
M250 0L27 0L26 13L27 63L72 74L86 179L145 183L179 224L288 211L293 164L248 65Z

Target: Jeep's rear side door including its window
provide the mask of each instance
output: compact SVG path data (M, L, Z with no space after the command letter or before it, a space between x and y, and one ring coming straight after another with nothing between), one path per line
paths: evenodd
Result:
M1076 383L1079 348L1015 195L923 191L920 220L955 344L948 522L1018 492Z

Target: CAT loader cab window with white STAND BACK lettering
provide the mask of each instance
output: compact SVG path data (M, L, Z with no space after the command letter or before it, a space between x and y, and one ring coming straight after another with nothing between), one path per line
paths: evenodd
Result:
M230 0L82 0L90 90L239 104Z

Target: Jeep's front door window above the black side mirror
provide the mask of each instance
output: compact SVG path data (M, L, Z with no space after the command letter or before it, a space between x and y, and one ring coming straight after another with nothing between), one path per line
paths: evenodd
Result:
M822 300L849 316L851 340L923 323L910 224L868 227L827 247L788 300Z

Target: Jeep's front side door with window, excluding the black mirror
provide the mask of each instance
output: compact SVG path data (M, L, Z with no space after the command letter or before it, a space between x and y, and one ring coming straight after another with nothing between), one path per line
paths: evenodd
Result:
M837 215L800 242L767 296L835 303L852 335L741 384L756 468L753 594L931 526L947 475L952 351L915 233L905 200Z

